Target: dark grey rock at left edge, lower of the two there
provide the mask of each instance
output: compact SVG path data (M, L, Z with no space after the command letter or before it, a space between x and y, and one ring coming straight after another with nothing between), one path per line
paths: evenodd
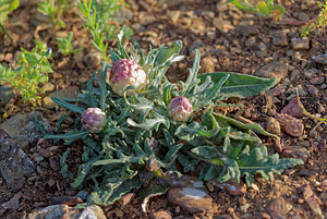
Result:
M0 131L2 135L5 132ZM32 174L35 165L11 137L0 138L0 172L8 187L19 191L24 183L24 177Z

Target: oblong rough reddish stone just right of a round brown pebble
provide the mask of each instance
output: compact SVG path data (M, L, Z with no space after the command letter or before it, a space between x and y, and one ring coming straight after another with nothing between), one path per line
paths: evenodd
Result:
M304 125L302 120L298 120L289 114L278 113L275 119L279 122L281 130L288 134L299 137L303 134Z

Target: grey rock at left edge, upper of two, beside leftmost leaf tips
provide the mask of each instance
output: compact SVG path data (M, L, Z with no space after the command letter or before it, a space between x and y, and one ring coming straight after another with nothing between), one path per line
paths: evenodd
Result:
M1 123L0 129L7 132L20 148L25 149L41 137L41 133L35 129L34 117L40 119L41 114L39 112L31 112L28 114L17 113ZM46 120L43 120L43 122L46 127L49 127L49 123Z

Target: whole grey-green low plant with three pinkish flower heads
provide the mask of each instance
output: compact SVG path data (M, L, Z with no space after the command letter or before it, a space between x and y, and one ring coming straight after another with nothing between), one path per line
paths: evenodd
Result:
M275 86L277 80L230 72L197 75L201 66L196 50L187 80L174 84L166 72L183 59L179 54L180 40L146 54L137 45L130 45L128 53L122 35L119 50L110 51L113 65L104 63L102 71L97 72L100 77L95 73L87 90L77 99L52 98L81 114L74 129L51 133L36 122L45 139L62 139L66 145L83 141L78 172L73 174L65 163L71 151L68 148L61 159L61 173L75 179L73 187L94 183L87 204L108 205L143 185L147 193L167 191L175 185L175 175L193 171L198 165L203 165L202 180L218 179L222 183L244 179L251 185L255 174L272 180L272 173L303 163L268 155L258 135L278 136L261 125L214 112L215 107L229 106L222 100L258 95ZM149 190L148 185L156 188Z

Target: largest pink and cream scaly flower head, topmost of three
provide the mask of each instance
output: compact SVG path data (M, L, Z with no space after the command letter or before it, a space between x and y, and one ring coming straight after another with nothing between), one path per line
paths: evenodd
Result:
M140 92L147 83L144 70L134 61L121 59L114 62L110 73L110 86L120 96L128 86L134 86L135 90L128 90L128 95Z

